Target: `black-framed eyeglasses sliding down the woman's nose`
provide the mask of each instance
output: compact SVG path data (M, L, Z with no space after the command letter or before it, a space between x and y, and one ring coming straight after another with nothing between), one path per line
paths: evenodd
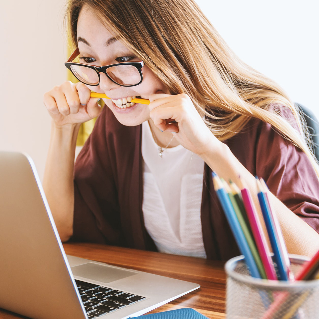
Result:
M122 62L103 66L72 62L79 54L79 49L76 48L64 65L84 84L99 85L100 72L104 73L112 82L121 86L135 86L143 81L143 61Z

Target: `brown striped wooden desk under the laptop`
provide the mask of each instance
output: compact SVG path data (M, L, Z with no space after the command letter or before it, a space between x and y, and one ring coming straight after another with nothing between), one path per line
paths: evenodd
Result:
M211 319L225 319L224 263L98 244L66 243L66 254L115 266L187 280L201 287L151 311L193 308ZM25 318L0 309L0 318ZM57 318L58 319L58 318Z

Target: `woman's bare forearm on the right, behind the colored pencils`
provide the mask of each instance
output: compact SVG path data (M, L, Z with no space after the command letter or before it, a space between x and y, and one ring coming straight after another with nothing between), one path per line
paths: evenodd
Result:
M216 145L215 145L216 146ZM226 181L231 179L239 184L239 177L251 192L255 201L257 211L262 216L257 199L257 186L255 177L239 162L228 146L220 143L219 149L214 148L212 152L202 155L205 162L220 177ZM319 235L306 222L294 214L276 196L270 194L270 201L273 211L276 213L286 246L289 253L313 256L319 249ZM261 218L261 220L263 220ZM264 230L265 226L263 225Z

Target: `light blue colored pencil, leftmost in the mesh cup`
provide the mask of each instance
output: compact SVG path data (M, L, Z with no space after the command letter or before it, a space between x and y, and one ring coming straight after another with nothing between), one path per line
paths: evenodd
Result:
M254 257L249 249L246 238L243 234L239 221L236 217L234 207L231 204L231 201L223 187L223 183L221 182L221 180L219 179L219 177L217 176L215 172L212 172L212 179L213 179L214 189L217 193L220 204L226 215L228 224L234 234L235 240L241 251L241 254L244 255L245 257L245 262L251 273L251 276L255 278L261 278L257 265L255 263Z

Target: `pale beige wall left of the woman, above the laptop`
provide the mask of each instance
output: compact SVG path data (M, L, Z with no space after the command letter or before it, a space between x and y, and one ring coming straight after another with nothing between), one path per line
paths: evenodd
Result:
M27 152L42 178L50 117L43 93L64 81L65 0L1 1L0 150Z

